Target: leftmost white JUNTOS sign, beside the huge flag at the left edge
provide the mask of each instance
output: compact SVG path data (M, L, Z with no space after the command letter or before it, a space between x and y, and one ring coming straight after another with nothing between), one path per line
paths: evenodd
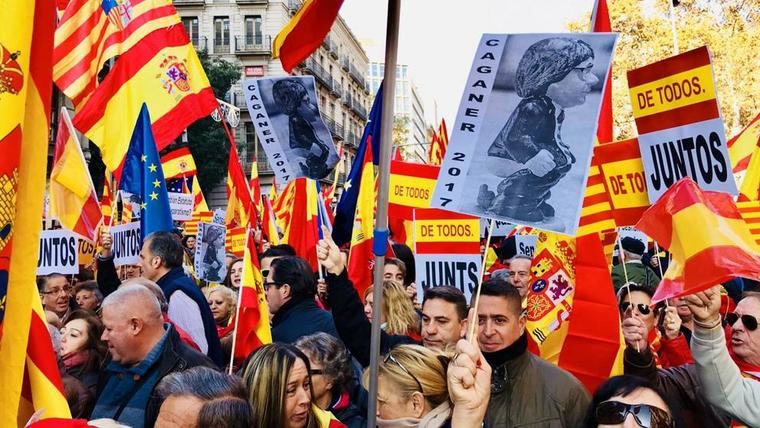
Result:
M68 230L43 230L40 233L37 275L51 273L79 273L79 235Z

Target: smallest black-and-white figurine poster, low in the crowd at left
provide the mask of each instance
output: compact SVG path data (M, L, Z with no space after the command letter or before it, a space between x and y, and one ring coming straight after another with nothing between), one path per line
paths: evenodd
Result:
M198 223L195 240L195 273L209 282L222 282L227 276L224 225Z

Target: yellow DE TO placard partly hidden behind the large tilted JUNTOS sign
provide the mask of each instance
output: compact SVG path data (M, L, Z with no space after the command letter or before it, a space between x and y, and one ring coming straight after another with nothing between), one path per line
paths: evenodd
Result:
M601 166L610 200L616 208L649 206L649 196L641 159L626 159Z

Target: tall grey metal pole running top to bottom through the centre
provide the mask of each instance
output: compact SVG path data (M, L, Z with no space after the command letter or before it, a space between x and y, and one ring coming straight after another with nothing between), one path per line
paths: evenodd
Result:
M383 76L383 114L380 133L380 162L378 176L377 215L373 252L375 253L374 289L375 307L382 307L383 267L388 247L388 183L390 181L391 148L393 144L393 104L396 99L396 56L398 53L398 26L401 0L388 0L388 21L385 29L385 75ZM367 147L367 150L372 150ZM370 341L369 403L367 404L367 427L374 428L377 418L377 364L380 358L380 312L372 312L372 336Z

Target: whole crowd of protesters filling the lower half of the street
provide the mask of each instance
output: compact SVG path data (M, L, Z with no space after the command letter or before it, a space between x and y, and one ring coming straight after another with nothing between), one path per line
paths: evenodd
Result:
M510 252L509 240L475 309L451 286L417 296L414 258L401 244L375 284L375 305L325 236L321 275L288 245L260 242L270 313L261 322L273 343L242 361L231 357L243 261L228 257L222 284L198 281L192 236L153 233L138 265L116 267L105 233L94 276L38 278L72 415L130 427L365 427L380 311L379 427L760 426L760 293L751 281L653 304L667 259L623 239L612 283L624 374L590 393L530 352L531 258Z

